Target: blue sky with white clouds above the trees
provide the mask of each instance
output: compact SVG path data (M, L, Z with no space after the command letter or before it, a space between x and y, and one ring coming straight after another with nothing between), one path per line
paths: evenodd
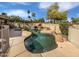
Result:
M27 11L36 13L36 18L42 18L47 15L47 8L55 2L0 2L0 13L7 15L16 15L27 18ZM58 2L59 11L68 11L68 20L72 17L79 17L79 2ZM31 15L31 14L29 14Z

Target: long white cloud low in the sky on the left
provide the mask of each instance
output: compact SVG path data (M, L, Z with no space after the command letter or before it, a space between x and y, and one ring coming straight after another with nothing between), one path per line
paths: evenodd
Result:
M23 17L23 18L27 18L28 17L28 13L24 10L8 10L7 11L7 14L8 15L15 15L15 16L20 16L20 17Z

